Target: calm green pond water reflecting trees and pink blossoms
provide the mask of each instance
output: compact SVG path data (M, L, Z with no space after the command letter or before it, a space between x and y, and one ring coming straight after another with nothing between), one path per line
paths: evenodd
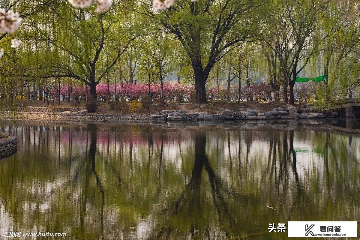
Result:
M19 147L0 160L0 239L287 239L269 223L360 221L359 133L328 125L1 121Z

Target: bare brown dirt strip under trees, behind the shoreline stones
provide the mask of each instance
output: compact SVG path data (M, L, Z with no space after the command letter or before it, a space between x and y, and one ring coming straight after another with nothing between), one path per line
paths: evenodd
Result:
M17 103L19 107L21 107L21 102ZM64 108L73 106L70 105L68 101L61 101L60 105L57 102L49 101L49 105L47 103L44 104L44 101L23 101L24 107L48 107L48 108ZM161 110L178 110L183 109L186 112L208 112L215 113L216 111L220 111L223 109L230 110L239 110L240 108L255 108L260 110L261 112L266 112L276 107L284 107L289 106L289 104L284 103L275 103L275 102L214 102L207 104L194 104L194 103L167 103L165 106L160 105L152 105L150 109L142 109L141 103L127 103L125 104L117 104L115 109L111 109L108 103L100 103L98 107L98 112L100 113L118 113L118 114L130 114L130 113L156 113L161 112ZM294 105L296 107L296 105ZM86 102L81 102L76 105L76 108L84 108L86 107Z

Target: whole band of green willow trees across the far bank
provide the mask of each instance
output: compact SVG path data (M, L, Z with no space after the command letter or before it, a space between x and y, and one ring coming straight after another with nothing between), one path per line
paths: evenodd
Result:
M177 0L156 11L151 1L116 0L99 14L95 5L78 9L60 1L7 0L1 7L12 6L24 18L14 35L23 44L1 46L6 54L0 59L0 100L19 105L15 99L22 104L41 98L45 89L59 92L63 83L88 86L95 98L99 82L163 81L147 52L153 35L162 36L155 45L167 53L166 72L193 83L198 102L206 101L207 86L240 91L241 82L252 78L268 81L276 101L292 103L300 84L296 77L320 75L326 80L316 84L319 104L359 96L357 5L356 0ZM212 70L219 67L225 74L217 78Z

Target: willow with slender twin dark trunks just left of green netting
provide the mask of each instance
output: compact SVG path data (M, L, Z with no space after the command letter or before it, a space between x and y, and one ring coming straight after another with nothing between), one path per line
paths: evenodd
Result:
M309 62L316 51L320 40L316 37L316 30L320 28L319 19L328 1L320 0L284 0L274 1L269 12L267 26L269 39L265 39L267 46L278 55L280 69L284 79L284 101L294 103L294 85L296 77Z

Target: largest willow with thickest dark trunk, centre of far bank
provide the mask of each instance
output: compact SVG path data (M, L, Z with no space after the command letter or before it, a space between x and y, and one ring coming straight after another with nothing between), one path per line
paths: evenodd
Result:
M177 0L167 10L142 1L139 12L173 33L191 60L195 102L205 103L205 85L212 67L236 44L256 35L260 6L266 0Z

